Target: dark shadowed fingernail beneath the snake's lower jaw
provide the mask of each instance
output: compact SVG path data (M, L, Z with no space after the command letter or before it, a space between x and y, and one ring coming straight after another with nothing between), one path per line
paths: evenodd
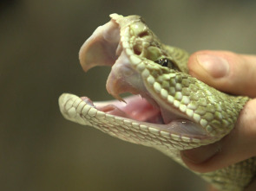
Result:
M206 162L218 152L220 152L220 144L212 143L192 150L183 150L181 155L183 159L195 164L199 164Z

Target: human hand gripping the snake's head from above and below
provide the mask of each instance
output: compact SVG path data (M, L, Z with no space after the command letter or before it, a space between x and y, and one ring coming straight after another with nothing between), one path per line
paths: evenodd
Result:
M188 60L190 74L221 92L252 98L233 129L217 143L181 151L189 169L210 172L256 156L256 55L204 50ZM211 190L215 190L211 188ZM246 191L256 190L253 181Z

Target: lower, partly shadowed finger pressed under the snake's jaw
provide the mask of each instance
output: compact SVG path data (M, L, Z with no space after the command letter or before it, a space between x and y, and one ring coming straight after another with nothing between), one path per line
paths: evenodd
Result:
M256 99L247 102L233 131L217 143L181 151L188 168L209 172L256 156Z

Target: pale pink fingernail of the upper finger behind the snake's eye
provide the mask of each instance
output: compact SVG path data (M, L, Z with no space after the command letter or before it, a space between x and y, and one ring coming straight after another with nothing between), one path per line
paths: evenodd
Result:
M221 78L229 72L228 61L220 56L211 54L199 54L197 60L201 67L213 78Z

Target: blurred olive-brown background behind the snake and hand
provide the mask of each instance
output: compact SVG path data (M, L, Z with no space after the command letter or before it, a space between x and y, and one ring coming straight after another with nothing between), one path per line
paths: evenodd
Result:
M157 150L71 123L62 92L112 99L110 68L83 73L83 41L108 15L141 15L167 44L190 53L255 54L256 1L3 0L0 3L0 190L206 190Z

